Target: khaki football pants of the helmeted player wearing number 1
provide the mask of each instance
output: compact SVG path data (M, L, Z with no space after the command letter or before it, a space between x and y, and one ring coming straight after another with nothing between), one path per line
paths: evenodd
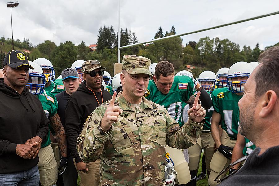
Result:
M234 147L236 140L231 140L228 136L227 132L223 129L222 137L221 137L221 143L228 147ZM208 178L208 184L210 186L215 186L218 183L214 181L214 179L218 176L218 174L224 170L229 164L231 163L230 159L227 159L224 157L222 153L220 153L218 150L216 153L214 153L212 160L210 162L210 168L211 172ZM227 172L222 174L218 179L224 178Z

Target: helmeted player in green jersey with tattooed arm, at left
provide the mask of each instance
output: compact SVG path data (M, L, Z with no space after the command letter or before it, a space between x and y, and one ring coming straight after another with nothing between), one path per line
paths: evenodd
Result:
M38 99L41 101L46 116L51 121L51 126L56 133L56 141L59 144L62 155L58 168L53 150L50 145L51 140L49 131L47 139L41 144L41 149L39 151L40 160L38 163L38 168L40 172L40 182L42 186L55 185L57 181L57 170L65 171L67 166L67 143L65 131L61 124L60 118L57 115L58 103L55 96L52 93L46 92L44 90L46 76L43 74L43 70L38 64L34 62L30 61L29 64L32 64L34 69L29 69L29 82L26 86L29 88L29 91L32 94L37 95Z

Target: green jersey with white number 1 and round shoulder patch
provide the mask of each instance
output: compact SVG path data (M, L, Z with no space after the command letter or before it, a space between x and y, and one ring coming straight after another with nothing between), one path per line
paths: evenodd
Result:
M227 87L215 89L212 92L212 105L214 111L221 114L221 126L230 138L237 138L237 128L239 121L238 101L239 96L228 90Z

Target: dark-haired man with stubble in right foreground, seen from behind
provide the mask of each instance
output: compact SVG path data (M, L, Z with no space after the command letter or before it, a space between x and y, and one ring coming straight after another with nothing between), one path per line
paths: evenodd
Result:
M279 183L279 47L264 51L239 100L238 131L257 148L244 165L220 185ZM233 168L233 167L232 167Z

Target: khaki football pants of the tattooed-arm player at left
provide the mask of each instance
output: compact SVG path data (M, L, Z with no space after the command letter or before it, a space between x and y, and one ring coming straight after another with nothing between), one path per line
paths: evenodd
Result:
M57 181L57 164L51 145L41 148L38 156L38 168L42 186L55 185Z

